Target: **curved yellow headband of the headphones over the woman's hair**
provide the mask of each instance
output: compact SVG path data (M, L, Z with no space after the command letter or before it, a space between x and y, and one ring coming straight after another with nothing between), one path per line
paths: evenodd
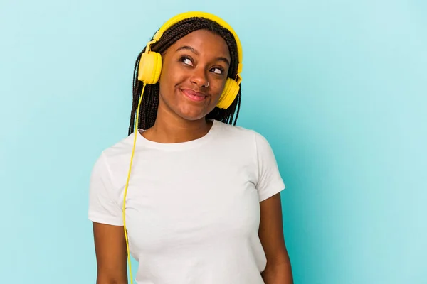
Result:
M218 25L220 25L223 28L226 28L228 31L230 31L230 33L233 35L234 39L236 40L236 44L237 44L238 67L237 67L236 81L238 83L240 83L241 82L240 73L243 70L243 64L242 64L242 62L243 62L243 50L242 50L242 46L241 46L241 41L238 38L237 33L233 30L233 28L231 28L231 26L228 23L226 23L226 21L224 21L222 18L219 18L218 16L215 16L211 13L200 12L200 11L190 11L190 12L180 13L180 14L170 18L166 23L164 23L159 28L159 31L157 31L157 33L154 34L153 40L147 44L146 52L149 51L150 45L152 45L153 43L160 40L163 33L165 31L167 31L168 28L174 26L174 24L179 23L182 20L185 20L186 18L206 18L208 20L211 20L211 21L218 23Z

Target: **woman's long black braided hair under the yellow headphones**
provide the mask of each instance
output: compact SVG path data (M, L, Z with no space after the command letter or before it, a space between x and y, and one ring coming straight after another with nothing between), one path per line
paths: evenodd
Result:
M200 29L206 29L217 35L220 35L227 43L228 50L231 56L230 67L228 70L228 77L235 79L238 67L238 54L237 54L237 45L236 40L233 35L226 29L218 25L214 21L210 21L206 18L186 18L183 21L176 23L174 26L165 31L162 35L162 38L157 43L154 43L151 47L152 51L157 53L164 53L167 48L173 45L176 40L183 38L185 35L193 31ZM130 125L129 125L129 134L134 131L135 127L135 115L137 114L137 107L139 102L139 96L141 96L143 83L140 82L138 78L138 67L139 60L141 58L142 50L139 53L137 61L135 62L134 76L133 76L133 98L132 98L132 111L130 114ZM236 125L238 118L238 111L241 104L241 91L239 89L236 99L231 104L228 109L220 109L215 107L209 114L206 115L206 119L216 119L222 121L226 124ZM139 125L138 129L149 129L154 125L157 116L157 108L159 107L159 82L156 84L147 84L144 89L144 96L142 97L141 109L139 111ZM236 114L236 118L233 122L233 117Z

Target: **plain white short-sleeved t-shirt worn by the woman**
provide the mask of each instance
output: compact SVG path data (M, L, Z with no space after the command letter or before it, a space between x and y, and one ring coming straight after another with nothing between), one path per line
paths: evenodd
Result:
M123 225L135 133L102 152L90 179L89 219ZM285 188L270 144L240 126L156 143L137 133L126 199L138 284L261 284L259 202Z

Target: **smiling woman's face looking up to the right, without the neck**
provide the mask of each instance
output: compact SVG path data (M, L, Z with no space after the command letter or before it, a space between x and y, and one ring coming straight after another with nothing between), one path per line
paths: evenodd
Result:
M226 41L210 31L194 31L169 47L162 62L159 111L186 120L209 114L221 97L231 62Z

